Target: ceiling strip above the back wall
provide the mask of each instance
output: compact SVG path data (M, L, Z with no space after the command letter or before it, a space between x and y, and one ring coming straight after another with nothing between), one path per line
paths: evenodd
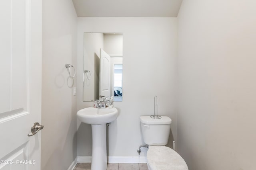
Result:
M72 0L78 17L177 17L182 0Z

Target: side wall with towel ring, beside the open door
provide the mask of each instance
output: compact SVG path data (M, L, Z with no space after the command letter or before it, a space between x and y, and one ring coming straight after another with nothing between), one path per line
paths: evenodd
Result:
M41 169L66 170L76 158L76 96L65 64L77 68L77 17L71 0L42 6Z

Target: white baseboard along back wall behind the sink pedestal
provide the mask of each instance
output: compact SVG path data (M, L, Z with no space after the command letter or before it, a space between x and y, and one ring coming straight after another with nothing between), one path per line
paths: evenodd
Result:
M147 163L146 156L108 156L108 163ZM92 156L77 156L78 163L92 162Z

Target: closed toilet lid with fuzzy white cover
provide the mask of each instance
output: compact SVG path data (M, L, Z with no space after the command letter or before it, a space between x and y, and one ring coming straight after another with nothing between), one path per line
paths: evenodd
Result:
M152 170L188 170L184 159L166 146L149 146L147 159Z

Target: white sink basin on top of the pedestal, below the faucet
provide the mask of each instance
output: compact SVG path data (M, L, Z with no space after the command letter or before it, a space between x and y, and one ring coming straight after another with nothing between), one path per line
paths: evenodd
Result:
M95 107L87 107L77 112L80 121L91 125L102 125L110 123L116 119L118 111L115 107L111 109L98 109Z

